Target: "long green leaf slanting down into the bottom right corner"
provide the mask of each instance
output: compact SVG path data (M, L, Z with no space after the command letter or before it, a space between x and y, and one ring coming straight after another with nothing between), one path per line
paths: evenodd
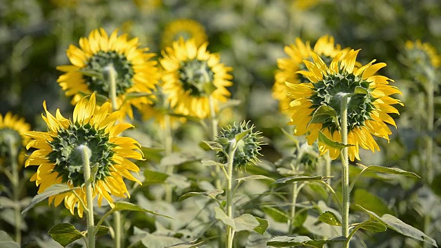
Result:
M426 234L424 234L422 231L416 229L415 227L412 227L411 225L407 225L406 223L402 222L399 218L396 218L395 216L391 216L390 214L384 214L382 217L375 214L373 211L369 211L365 209L364 207L357 205L362 209L362 211L365 211L369 216L372 218L378 220L379 223L382 225L385 225L386 227L389 227L390 229L393 229L397 231L399 234L402 234L404 236L408 236L411 238L415 238L416 240L424 241L429 243L430 245L433 245L434 247L438 247L435 240L433 238L430 238Z

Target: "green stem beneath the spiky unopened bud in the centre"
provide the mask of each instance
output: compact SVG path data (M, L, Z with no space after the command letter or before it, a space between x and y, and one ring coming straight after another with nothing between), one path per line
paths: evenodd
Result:
M227 216L231 219L234 218L233 215L233 161L234 161L234 153L237 149L236 141L232 141L228 152L228 163L227 163L227 188L225 189L225 194L227 195L227 203L225 207L227 208ZM227 248L233 247L233 239L234 239L234 229L227 225Z

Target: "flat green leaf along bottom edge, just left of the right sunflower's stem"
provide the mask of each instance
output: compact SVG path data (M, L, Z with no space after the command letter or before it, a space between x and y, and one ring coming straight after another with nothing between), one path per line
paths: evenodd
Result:
M345 237L335 237L329 240L311 240L308 236L276 236L271 238L267 242L267 245L271 247L294 247L296 245L302 245L307 247L322 248L325 244L331 244L336 242L345 242Z

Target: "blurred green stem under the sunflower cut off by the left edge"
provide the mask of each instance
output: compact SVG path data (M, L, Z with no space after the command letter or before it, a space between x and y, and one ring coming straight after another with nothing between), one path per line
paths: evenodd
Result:
M10 151L10 161L12 170L12 195L14 200L14 220L15 220L15 242L21 244L21 209L20 209L20 178L19 178L19 164L18 153L14 147L14 141L7 139Z

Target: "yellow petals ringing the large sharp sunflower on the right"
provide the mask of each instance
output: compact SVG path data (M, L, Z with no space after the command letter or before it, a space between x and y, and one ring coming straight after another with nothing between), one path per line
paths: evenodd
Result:
M372 152L380 150L378 144L373 139L373 136L378 136L389 141L389 134L391 130L386 125L389 123L396 127L395 121L389 116L389 114L399 114L398 110L391 105L400 104L401 101L393 99L392 94L401 94L397 87L389 85L389 81L386 76L376 75L376 72L386 66L385 63L376 63L375 60L371 61L367 65L363 65L361 68L357 68L356 56L359 50L351 50L346 54L336 56L331 62L329 67L317 54L313 54L313 61L304 61L307 67L307 71L298 72L305 76L310 83L287 83L290 88L288 96L291 98L291 125L295 125L294 134L306 136L309 145L318 140L319 131L322 131L328 138L334 141L341 142L341 134L339 130L331 130L327 127L323 127L322 123L310 123L312 114L316 110L311 101L311 97L316 94L316 88L313 83L322 81L325 75L336 74L353 74L362 81L369 83L369 94L373 101L373 110L369 113L370 118L364 121L364 125L348 128L348 144L353 146L349 147L349 158L351 161L354 159L360 160L359 147L364 149L371 149ZM325 104L325 103L323 103ZM348 123L348 126L351 123ZM331 158L335 159L339 156L340 150L329 147L325 143L319 142L320 154L324 154L329 150Z

